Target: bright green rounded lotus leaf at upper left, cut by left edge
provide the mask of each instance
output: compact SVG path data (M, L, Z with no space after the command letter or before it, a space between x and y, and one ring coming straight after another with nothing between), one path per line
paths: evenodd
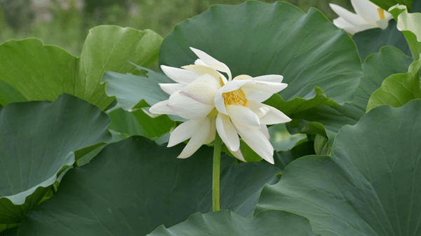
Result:
M54 101L74 94L77 57L39 39L10 40L0 45L0 78L25 99Z

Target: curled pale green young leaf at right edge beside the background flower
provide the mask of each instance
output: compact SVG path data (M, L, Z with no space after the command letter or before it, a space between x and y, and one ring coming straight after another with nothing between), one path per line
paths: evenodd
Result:
M419 60L421 54L421 13L408 13L406 6L402 5L390 8L389 12L397 21L397 29L405 36L414 59Z

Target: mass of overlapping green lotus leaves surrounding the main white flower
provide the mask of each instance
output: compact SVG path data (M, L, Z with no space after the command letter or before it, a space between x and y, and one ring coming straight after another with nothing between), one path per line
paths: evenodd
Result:
M0 235L421 235L421 3L350 36L291 4L217 5L162 38L93 27L80 57L39 39L0 45ZM398 4L398 5L396 5ZM410 9L410 10L408 10ZM232 76L282 75L265 104L274 165L246 142L167 148L184 118L152 114L173 83L159 65L199 48Z

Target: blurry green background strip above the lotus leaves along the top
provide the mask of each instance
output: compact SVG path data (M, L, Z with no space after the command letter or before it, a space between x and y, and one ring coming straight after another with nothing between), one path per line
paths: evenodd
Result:
M329 20L337 17L328 6L352 9L349 0L286 0L307 12L318 8ZM0 43L36 37L79 56L88 30L96 25L152 29L166 36L182 20L213 4L244 0L0 0ZM274 0L263 0L273 3Z

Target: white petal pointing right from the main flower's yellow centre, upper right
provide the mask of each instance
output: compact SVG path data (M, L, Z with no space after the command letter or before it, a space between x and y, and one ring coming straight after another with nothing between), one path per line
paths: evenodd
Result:
M286 83L275 83L266 81L255 81L255 83L248 83L241 87L247 99L257 102L264 102L274 93L278 93L286 88Z

